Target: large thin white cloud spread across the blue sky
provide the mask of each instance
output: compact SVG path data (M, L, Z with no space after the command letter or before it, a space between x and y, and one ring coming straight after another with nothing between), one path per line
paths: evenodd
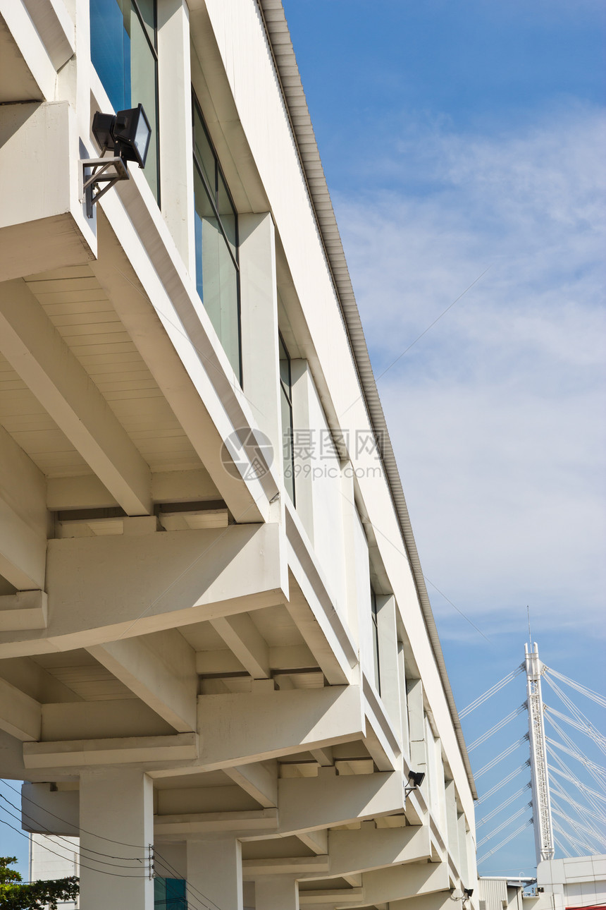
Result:
M415 126L384 188L336 200L377 374L491 267L379 380L423 568L487 622L603 612L604 133L573 104L524 135Z

